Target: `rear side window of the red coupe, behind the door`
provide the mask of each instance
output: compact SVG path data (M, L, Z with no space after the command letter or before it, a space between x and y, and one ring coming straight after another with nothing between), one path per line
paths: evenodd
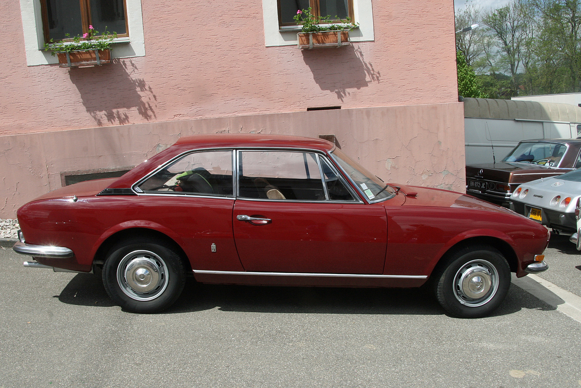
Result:
M138 187L145 193L231 197L232 151L193 152L182 156Z

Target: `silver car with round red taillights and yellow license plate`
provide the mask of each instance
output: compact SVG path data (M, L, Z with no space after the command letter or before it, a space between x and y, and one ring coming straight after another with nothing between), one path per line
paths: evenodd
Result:
M511 209L557 233L573 234L578 232L575 209L580 197L581 169L576 169L521 184L511 195Z

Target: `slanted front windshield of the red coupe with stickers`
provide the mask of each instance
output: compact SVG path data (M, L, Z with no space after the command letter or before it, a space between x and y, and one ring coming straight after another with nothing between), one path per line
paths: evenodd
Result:
M383 183L381 179L365 170L349 156L343 154L338 148L332 152L331 156L345 170L345 173L355 182L357 188L363 192L370 201L384 200L392 198L395 191L392 187Z

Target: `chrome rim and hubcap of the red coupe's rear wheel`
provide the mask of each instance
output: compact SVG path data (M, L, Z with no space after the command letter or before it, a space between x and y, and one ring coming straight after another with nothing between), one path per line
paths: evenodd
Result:
M160 296L167 287L165 262L153 252L133 251L117 267L117 282L128 297L148 301Z

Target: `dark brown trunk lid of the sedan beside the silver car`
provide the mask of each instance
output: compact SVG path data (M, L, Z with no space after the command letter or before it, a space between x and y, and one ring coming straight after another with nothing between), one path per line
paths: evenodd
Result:
M526 163L499 162L466 166L466 177L504 183L525 183L569 171L570 169L555 169Z

